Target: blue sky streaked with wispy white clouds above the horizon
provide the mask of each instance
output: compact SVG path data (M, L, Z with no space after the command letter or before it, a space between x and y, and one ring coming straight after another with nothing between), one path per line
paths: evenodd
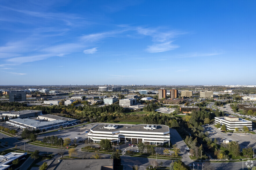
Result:
M256 1L1 1L1 85L256 84Z

